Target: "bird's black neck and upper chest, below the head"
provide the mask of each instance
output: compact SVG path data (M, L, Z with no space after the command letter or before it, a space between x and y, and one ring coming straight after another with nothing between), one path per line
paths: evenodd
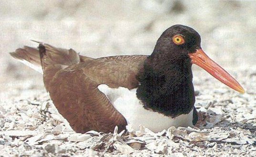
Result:
M144 108L165 116L188 114L195 103L192 78L188 56L153 53L139 75L137 97Z

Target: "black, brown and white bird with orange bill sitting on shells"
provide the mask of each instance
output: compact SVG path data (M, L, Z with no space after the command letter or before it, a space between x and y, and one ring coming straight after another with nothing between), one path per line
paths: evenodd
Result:
M24 46L10 55L43 73L53 104L78 133L109 133L115 126L123 130L127 125L134 130L142 125L154 132L195 126L193 64L245 92L205 54L199 33L184 25L166 29L150 55L93 59L73 49L38 43L38 48Z

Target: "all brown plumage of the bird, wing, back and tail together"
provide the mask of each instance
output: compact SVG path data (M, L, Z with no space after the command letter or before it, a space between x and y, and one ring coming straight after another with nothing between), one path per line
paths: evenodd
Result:
M92 59L73 49L59 49L43 43L39 49L25 46L10 54L37 66L41 65L41 54L45 88L55 107L76 132L111 132L115 126L125 129L126 120L97 87L107 84L111 88L136 88L137 74L147 56Z

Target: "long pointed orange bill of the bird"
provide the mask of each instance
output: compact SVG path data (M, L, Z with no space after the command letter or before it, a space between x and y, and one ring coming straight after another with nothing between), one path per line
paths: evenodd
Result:
M210 59L202 49L197 49L195 53L189 53L192 63L205 69L213 77L224 83L230 88L240 93L245 93L244 88L229 73L222 69L217 63Z

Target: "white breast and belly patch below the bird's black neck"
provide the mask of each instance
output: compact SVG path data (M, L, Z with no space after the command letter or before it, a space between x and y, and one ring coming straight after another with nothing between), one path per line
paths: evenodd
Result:
M189 114L180 115L176 118L164 116L158 112L143 108L143 104L136 97L136 89L128 88L109 88L105 84L98 86L98 89L126 119L127 123L134 129L139 130L142 125L154 132L174 127L193 127L193 109Z

